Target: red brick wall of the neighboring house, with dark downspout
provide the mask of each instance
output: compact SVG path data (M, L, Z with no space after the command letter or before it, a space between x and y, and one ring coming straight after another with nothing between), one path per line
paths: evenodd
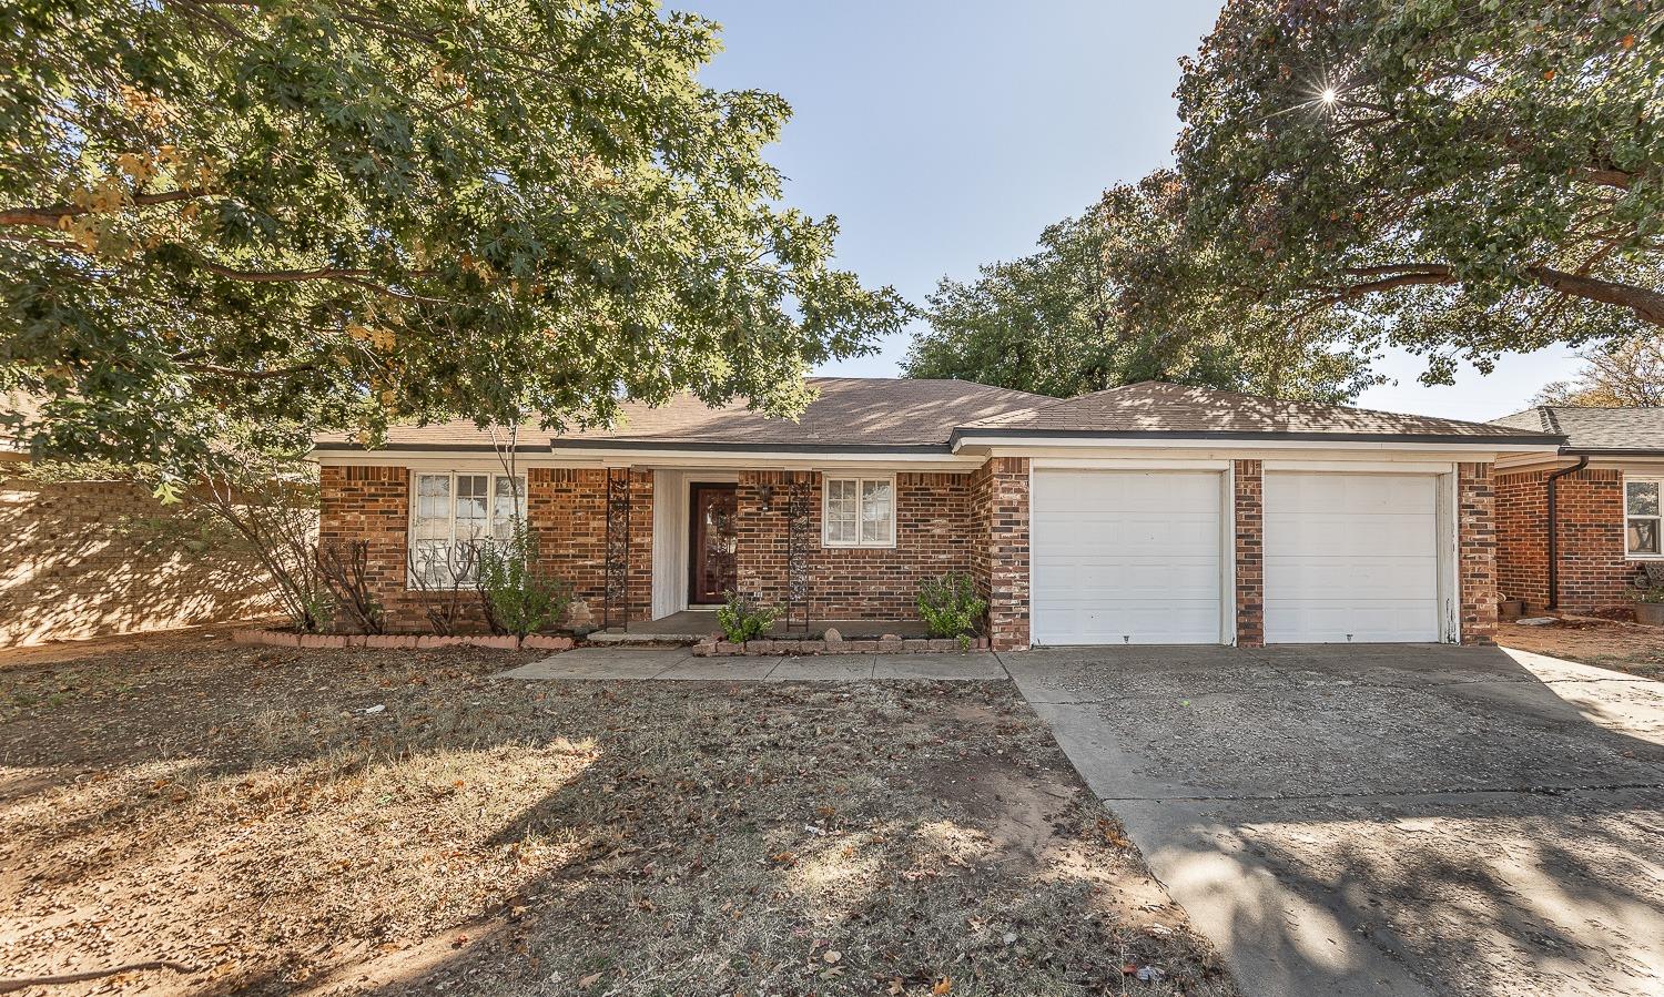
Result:
M1548 471L1496 478L1498 579L1531 609L1549 604ZM1629 604L1639 561L1624 558L1624 473L1582 469L1556 486L1559 608L1589 613Z

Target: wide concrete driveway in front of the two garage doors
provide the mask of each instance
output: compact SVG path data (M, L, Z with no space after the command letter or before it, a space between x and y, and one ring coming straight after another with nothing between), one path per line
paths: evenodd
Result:
M1664 684L1496 647L1002 659L1245 994L1664 994Z

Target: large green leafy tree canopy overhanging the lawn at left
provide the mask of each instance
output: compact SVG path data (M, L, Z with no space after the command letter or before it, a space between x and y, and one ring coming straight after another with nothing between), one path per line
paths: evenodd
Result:
M18 0L0 15L0 413L193 466L241 424L790 414L907 308L782 206L789 108L646 0ZM27 426L20 426L22 423ZM3 429L5 426L0 426Z

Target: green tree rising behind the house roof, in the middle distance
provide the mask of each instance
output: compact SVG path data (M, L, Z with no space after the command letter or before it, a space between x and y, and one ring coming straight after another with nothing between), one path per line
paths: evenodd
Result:
M1178 243L1175 190L1168 173L1115 186L1037 253L943 278L907 374L1060 398L1160 379L1345 401L1374 381L1369 343L1338 345L1326 316L1290 325L1215 293L1206 258Z

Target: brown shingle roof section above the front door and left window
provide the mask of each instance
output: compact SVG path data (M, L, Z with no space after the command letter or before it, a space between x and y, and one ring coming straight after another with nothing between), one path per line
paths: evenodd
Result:
M735 446L780 449L897 449L945 448L955 426L1000 413L1055 401L1045 394L990 388L973 381L907 378L809 378L819 389L802 418L777 419L742 404L711 408L692 394L679 394L651 408L626 403L612 429L582 429L556 438L554 446ZM539 449L549 436L521 431L521 446ZM321 449L356 449L344 434L318 438ZM491 434L468 419L428 426L394 426L388 446L416 449L491 448Z

